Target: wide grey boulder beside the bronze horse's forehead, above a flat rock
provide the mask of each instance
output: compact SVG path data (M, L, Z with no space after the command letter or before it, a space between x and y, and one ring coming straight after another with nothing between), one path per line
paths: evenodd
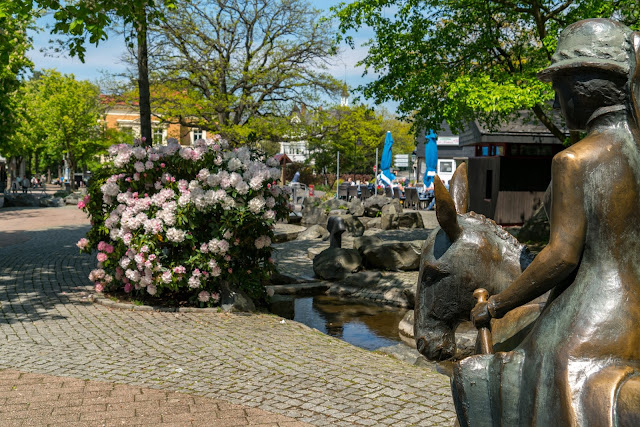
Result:
M420 246L408 242L385 242L362 246L360 253L367 268L390 271L417 271L420 267Z

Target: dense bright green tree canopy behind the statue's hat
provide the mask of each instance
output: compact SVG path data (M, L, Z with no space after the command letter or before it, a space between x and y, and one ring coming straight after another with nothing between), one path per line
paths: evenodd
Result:
M348 32L364 26L375 33L361 64L378 78L359 89L376 103L398 101L402 117L426 129L495 126L530 110L560 139L553 91L536 78L559 32L595 17L638 25L636 0L356 0L332 9L338 40L353 46Z

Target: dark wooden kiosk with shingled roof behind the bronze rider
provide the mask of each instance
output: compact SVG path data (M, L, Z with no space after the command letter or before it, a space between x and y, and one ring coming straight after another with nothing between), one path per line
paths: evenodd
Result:
M499 224L522 224L533 215L551 181L551 159L564 148L537 119L524 117L494 130L473 122L459 135L461 146L474 147L469 208Z

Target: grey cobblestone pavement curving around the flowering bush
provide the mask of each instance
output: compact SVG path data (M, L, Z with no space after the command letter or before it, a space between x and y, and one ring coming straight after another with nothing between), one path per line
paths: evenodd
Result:
M0 210L0 230L3 220ZM296 322L91 304L94 259L75 247L86 230L24 231L29 240L0 248L0 405L18 371L179 392L313 425L453 423L446 377Z

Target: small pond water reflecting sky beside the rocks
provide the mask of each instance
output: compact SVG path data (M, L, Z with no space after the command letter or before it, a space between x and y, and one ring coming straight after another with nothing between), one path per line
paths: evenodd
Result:
M397 344L406 310L330 296L274 297L271 311L367 350Z

